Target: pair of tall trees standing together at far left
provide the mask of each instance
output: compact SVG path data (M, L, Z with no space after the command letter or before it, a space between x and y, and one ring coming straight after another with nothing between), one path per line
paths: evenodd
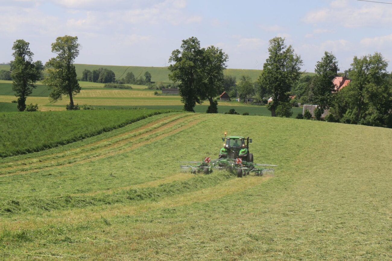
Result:
M51 90L49 94L51 101L61 100L63 95L69 96L70 103L67 108L73 109L73 96L81 89L73 65L75 58L79 55L78 37L68 35L58 37L51 46L52 52L57 56L45 64L48 76L43 82ZM18 97L18 111L24 111L27 96L36 88L36 81L43 77L44 65L41 61L33 62L34 54L25 40L16 40L12 49L14 51L12 54L14 60L11 61L12 88Z

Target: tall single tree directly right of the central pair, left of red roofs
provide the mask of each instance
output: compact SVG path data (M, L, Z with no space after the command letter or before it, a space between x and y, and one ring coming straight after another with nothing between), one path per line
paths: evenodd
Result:
M276 116L276 108L281 103L289 102L292 86L301 76L301 57L294 53L291 45L287 47L281 37L269 41L269 57L264 63L259 83L272 95L272 103L268 107L271 115Z

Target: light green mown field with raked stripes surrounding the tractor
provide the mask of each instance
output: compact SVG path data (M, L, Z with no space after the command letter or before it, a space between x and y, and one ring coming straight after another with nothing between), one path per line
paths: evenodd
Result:
M179 172L215 158L224 131L275 176ZM391 155L384 128L152 116L0 159L0 259L390 260Z

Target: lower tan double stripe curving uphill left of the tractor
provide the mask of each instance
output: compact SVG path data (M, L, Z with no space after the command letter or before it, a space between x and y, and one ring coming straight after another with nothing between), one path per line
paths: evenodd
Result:
M137 149L138 147L141 147L148 143L160 140L167 136L176 134L182 130L188 129L189 127L192 127L193 125L199 123L201 121L199 118L200 118L200 114L191 114L189 116L182 117L178 120L174 120L166 125L158 127L151 131L144 132L141 135L134 136L126 140L121 140L117 143L113 143L105 147L104 149L96 149L89 152L80 153L76 155L76 157L69 157L69 158L64 157L61 158L62 161L56 161L56 162L52 161L51 163L47 163L47 165L36 163L34 165L30 165L29 169L26 169L25 167L11 168L9 170L3 169L5 170L5 172L4 171L0 172L0 177L13 176L17 174L36 173L36 172L40 172L41 170L50 170L59 166L72 166L78 163L85 163L96 159L106 158L116 154L129 152L130 150ZM133 145L128 146L130 142L134 142L134 143Z

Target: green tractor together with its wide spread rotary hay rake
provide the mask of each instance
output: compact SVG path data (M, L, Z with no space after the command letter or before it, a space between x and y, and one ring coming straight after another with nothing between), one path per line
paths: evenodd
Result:
M206 157L203 161L183 162L196 165L181 165L181 170L185 172L190 171L194 174L200 172L209 174L214 169L224 169L236 173L239 178L252 173L257 176L264 174L274 175L275 169L271 167L277 167L276 165L253 163L253 154L249 152L249 143L252 143L252 139L243 136L227 137L225 132L225 137L222 140L225 143L219 152L218 159Z

